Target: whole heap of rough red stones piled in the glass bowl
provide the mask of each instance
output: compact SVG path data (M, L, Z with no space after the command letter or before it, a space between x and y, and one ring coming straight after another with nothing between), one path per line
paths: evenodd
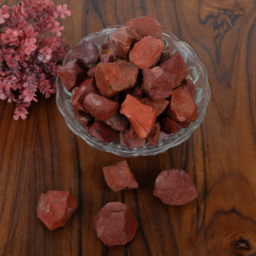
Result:
M84 40L59 70L70 91L74 115L105 143L155 146L198 116L195 85L182 55L161 41L155 15L134 18L114 31L102 52Z

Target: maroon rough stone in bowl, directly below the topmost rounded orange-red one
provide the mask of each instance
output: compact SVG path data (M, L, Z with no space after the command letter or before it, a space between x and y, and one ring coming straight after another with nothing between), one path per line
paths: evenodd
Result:
M142 73L142 89L149 98L159 102L171 96L173 81L170 73L158 66L152 69L145 69Z

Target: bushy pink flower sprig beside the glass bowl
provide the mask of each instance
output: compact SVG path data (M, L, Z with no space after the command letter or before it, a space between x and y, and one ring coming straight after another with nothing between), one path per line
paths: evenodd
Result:
M0 8L0 99L15 102L13 118L25 119L37 92L56 93L56 75L65 57L57 19L70 16L67 5L24 0ZM47 35L46 35L47 34Z

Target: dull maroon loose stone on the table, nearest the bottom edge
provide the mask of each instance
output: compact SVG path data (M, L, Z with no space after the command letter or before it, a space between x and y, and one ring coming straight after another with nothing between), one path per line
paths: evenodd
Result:
M132 241L138 221L131 207L120 202L110 202L94 217L94 226L101 241L112 247Z

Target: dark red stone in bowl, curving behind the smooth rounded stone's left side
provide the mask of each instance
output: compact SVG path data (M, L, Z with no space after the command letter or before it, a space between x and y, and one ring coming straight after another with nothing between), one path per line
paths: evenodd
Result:
M81 85L79 85L78 89L73 95L73 99L71 102L71 105L73 106L73 108L76 110L82 110L82 111L88 112L85 109L84 100L85 100L85 96L92 92L99 94L95 79L89 78L89 79L86 79Z

